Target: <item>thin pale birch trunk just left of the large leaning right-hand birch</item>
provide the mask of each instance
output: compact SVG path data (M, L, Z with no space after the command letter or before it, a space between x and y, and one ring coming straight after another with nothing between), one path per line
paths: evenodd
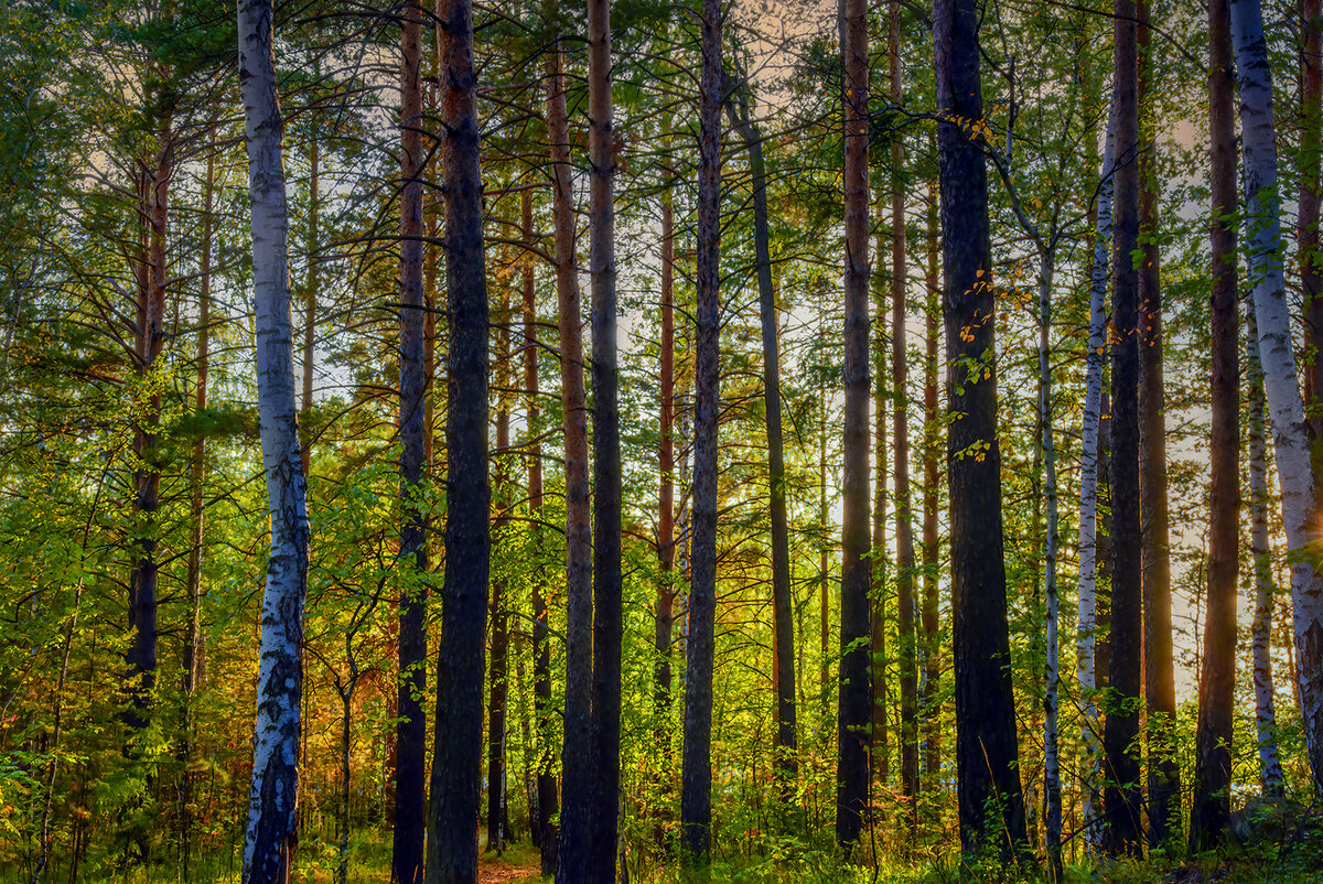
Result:
M1234 144L1232 146L1234 150ZM1232 184L1234 187L1234 183ZM1277 749L1277 709L1273 699L1273 606L1277 589L1269 549L1267 445L1263 439L1263 368L1258 359L1258 322L1254 302L1245 302L1249 364L1249 498L1250 553L1254 565L1254 725L1258 738L1258 779L1265 795L1283 793L1282 761ZM1287 644L1290 651L1290 644ZM1293 679L1294 682L1294 679Z

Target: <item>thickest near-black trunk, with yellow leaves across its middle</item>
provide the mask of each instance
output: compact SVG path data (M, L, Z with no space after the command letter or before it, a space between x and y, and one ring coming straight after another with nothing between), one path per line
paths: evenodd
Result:
M938 157L955 651L955 761L966 852L1027 844L1007 635L987 169L960 128L983 118L978 3L938 0Z

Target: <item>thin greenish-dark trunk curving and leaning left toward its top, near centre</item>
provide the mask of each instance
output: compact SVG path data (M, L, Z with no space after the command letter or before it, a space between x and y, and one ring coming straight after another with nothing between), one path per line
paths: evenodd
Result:
M773 680L777 684L775 768L781 799L789 802L794 789L795 757L795 637L791 618L794 598L790 588L790 527L786 511L786 455L781 429L781 344L777 320L777 292L771 285L771 243L767 232L767 164L762 155L762 132L749 114L749 79L738 73L733 102L726 105L732 123L740 131L749 154L753 177L753 237L758 262L758 318L762 328L762 402L767 430L769 517L771 520L771 625ZM664 341L663 330L663 341Z

